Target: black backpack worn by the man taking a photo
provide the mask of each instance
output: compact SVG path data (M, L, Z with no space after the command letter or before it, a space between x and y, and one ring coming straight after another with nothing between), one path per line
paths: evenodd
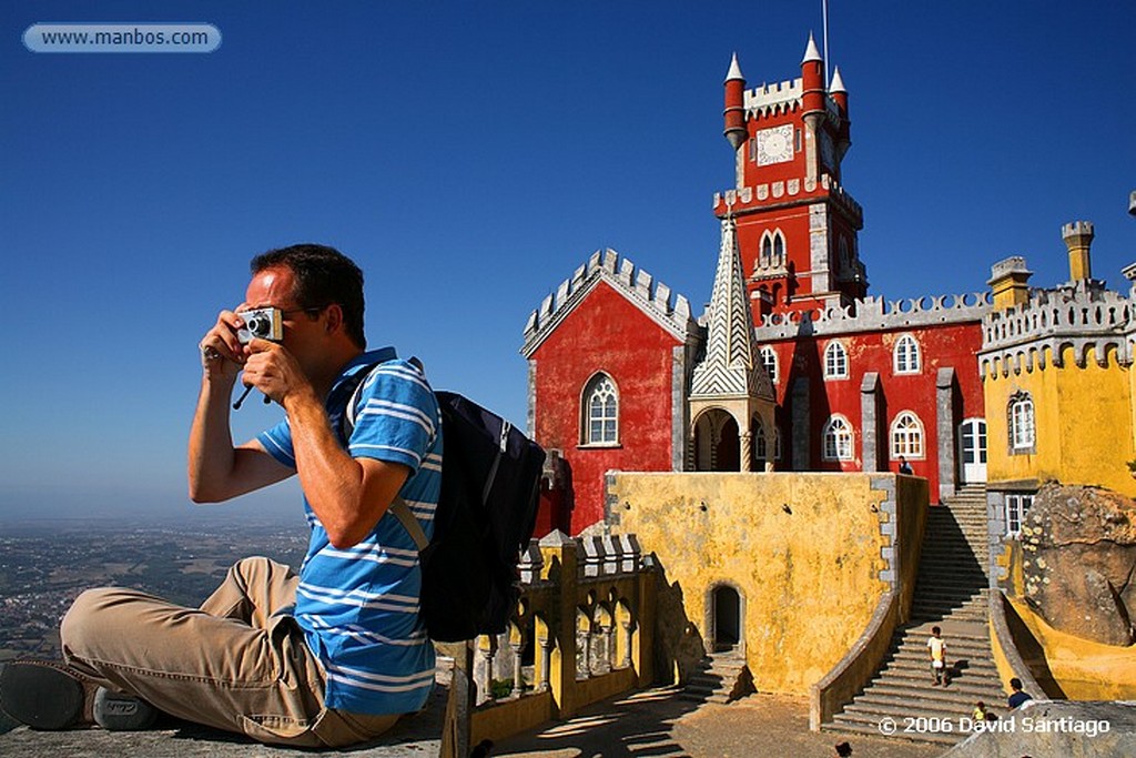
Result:
M359 382L369 372L359 372ZM351 436L358 389L343 414ZM442 416L442 494L429 542L402 498L391 513L421 563L421 615L437 642L506 631L517 605L517 563L536 525L544 450L512 424L454 392L436 392Z

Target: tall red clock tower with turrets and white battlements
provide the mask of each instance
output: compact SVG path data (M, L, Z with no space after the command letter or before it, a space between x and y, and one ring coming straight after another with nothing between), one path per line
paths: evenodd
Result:
M737 224L754 319L863 298L857 238L863 213L841 188L851 140L840 69L826 86L810 35L800 78L746 90L735 55L725 88L735 186L715 195L715 213Z

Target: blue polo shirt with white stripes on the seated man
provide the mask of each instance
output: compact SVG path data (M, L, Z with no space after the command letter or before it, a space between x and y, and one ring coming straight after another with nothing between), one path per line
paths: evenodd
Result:
M375 368L358 393L346 448L353 458L410 468L400 494L429 538L442 486L442 426L421 370L391 348L359 356L327 395L332 428L342 428L357 384L348 378L368 366ZM295 467L286 418L257 439L276 460ZM311 540L295 618L327 670L325 705L359 714L418 710L434 682L434 647L418 614L421 574L414 540L387 513L361 542L336 549L307 498L303 506Z

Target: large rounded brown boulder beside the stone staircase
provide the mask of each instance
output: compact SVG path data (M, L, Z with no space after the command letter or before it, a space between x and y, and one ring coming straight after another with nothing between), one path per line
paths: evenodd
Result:
M1134 641L1136 502L1108 490L1046 484L1021 530L1026 600L1056 630Z

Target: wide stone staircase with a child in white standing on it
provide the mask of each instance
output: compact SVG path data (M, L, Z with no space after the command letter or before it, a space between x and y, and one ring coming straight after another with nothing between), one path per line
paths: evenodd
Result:
M986 491L968 486L927 516L911 622L895 631L892 648L876 673L844 710L822 728L879 735L885 718L896 736L954 744L969 736L959 719L975 702L1005 713L1005 693L994 666L987 630ZM946 642L947 686L933 686L927 638L933 626ZM914 732L908 719L925 717ZM949 724L949 726L947 726Z

